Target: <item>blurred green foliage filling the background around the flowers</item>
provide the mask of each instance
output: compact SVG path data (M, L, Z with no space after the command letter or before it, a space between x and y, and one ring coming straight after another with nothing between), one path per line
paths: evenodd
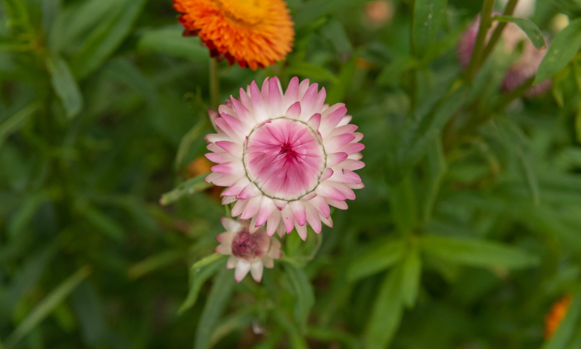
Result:
M553 87L530 99L500 90L514 57L462 73L482 1L389 3L374 23L363 0L288 1L286 62L220 63L224 99L320 83L366 145L335 227L286 236L262 283L235 284L212 254L227 212L188 166L216 107L209 55L171 2L3 0L0 348L579 348L581 3L500 18L550 38Z

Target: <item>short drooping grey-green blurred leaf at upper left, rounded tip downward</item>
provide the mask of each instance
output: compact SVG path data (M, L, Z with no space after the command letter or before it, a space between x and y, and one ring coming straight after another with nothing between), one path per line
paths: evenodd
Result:
M72 119L83 108L83 96L81 96L77 81L74 80L67 62L60 57L46 59L46 66L51 73L52 88L63 102L67 117Z

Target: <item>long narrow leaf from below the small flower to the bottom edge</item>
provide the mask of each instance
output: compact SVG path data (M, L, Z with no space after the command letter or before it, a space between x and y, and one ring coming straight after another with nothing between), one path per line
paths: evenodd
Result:
M234 276L232 275L232 270L222 270L214 277L214 284L202 309L202 315L200 315L202 320L196 327L194 349L210 348L211 334L228 304L233 287Z

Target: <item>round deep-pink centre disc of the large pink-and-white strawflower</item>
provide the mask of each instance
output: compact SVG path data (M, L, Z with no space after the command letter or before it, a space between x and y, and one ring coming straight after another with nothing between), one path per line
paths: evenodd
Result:
M279 117L250 133L242 160L264 195L290 201L317 187L327 158L306 123Z

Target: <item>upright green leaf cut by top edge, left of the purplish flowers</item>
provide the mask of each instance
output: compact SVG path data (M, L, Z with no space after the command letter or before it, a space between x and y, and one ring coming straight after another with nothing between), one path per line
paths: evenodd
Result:
M446 15L448 0L415 0L412 23L414 54L424 56L436 41L437 33Z

